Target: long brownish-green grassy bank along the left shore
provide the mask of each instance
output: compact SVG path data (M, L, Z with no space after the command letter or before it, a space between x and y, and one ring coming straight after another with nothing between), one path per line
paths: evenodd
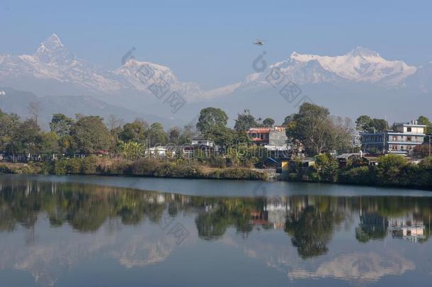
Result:
M128 161L86 157L84 159L60 159L55 162L30 162L28 164L0 163L0 173L268 180L268 175L265 172L244 167L207 167L184 159L175 161L160 161L157 159Z

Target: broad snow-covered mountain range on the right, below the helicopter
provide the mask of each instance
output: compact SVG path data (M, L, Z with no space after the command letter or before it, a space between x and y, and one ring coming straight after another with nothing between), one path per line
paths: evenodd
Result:
M363 83L385 88L404 86L405 80L417 71L416 67L399 60L385 60L377 52L364 47L356 47L345 55L336 57L292 52L287 60L270 64L262 72L249 74L241 82L205 94L215 97L230 94L236 89L271 86L269 74L275 69L278 69L284 81L300 85Z

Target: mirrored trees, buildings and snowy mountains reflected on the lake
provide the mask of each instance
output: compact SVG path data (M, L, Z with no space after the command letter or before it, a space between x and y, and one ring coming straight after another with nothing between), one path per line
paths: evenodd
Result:
M144 268L207 242L209 250L241 249L244 260L261 261L291 283L430 276L431 203L408 196L200 197L5 177L0 270L29 271L52 286L81 261L108 257L124 269ZM188 231L180 243L168 231L175 223ZM231 256L227 249L227 262Z

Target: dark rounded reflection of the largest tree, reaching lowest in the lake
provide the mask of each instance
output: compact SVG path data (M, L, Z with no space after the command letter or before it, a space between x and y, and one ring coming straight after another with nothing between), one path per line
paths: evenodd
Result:
M307 206L300 215L288 217L285 232L292 236L292 245L303 258L319 256L328 251L334 226L338 223L331 211Z

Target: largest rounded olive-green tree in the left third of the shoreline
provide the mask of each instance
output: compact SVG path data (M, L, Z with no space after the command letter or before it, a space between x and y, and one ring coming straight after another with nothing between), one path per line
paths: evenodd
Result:
M100 116L79 117L70 133L74 152L92 154L97 150L107 150L110 146L110 133Z

